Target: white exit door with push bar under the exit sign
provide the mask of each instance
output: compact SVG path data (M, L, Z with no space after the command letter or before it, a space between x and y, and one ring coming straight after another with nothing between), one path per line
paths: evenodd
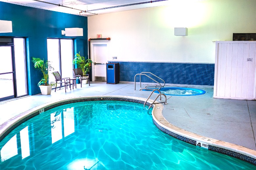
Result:
M106 81L107 44L93 44L92 49L92 60L95 62L92 68L94 73L92 80Z

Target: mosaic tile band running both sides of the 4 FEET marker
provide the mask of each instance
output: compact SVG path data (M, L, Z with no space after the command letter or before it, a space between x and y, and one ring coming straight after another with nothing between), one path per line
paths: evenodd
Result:
M154 119L153 119L153 122L164 133L167 133L168 135L170 135L170 136L172 136L174 138L177 138L177 139L179 139L181 141L184 141L186 143L196 145L197 142L195 140L186 138L186 137L181 136L181 135L178 135L176 133L171 132L168 129L165 129L165 128L161 127ZM256 165L256 159L255 158L249 157L247 155L244 155L244 154L241 154L241 153L238 153L238 152L234 152L234 151L231 151L231 150L228 150L228 149L224 149L224 148L217 147L217 146L212 146L212 145L208 145L208 150L211 150L211 151L214 151L214 152L218 152L218 153L222 153L224 155L228 155L228 156L231 156L231 157L234 157L234 158L237 158L237 159L249 162L249 163L251 163L253 165Z

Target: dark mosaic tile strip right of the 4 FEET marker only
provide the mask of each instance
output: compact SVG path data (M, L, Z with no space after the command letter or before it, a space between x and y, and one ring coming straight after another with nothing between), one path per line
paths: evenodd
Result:
M243 160L243 161L249 162L253 165L256 165L256 159L252 158L252 157L249 157L247 155L237 153L237 152L234 152L234 151L231 151L231 150L228 150L228 149L224 149L224 148L221 148L221 147L212 146L212 145L208 145L208 149L212 150L212 151L215 151L215 152L218 152L218 153L228 155L228 156L232 156L234 158L238 158L240 160Z

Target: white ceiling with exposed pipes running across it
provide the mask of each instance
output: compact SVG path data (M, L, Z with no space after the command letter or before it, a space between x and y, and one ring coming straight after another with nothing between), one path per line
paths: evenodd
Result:
M90 16L96 14L99 15L133 9L163 6L168 5L172 0L155 0L152 1L152 3L148 0L40 0L42 2L39 2L39 0L0 1L75 15Z

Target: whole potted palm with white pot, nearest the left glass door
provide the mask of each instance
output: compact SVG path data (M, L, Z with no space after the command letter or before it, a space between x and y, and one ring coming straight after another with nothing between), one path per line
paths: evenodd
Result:
M51 94L52 86L54 87L56 85L54 82L48 84L48 73L49 71L54 70L54 68L51 66L51 62L48 60L44 62L44 60L34 57L32 57L32 62L34 63L35 69L40 70L43 73L42 79L37 84L41 90L41 93L44 95Z

